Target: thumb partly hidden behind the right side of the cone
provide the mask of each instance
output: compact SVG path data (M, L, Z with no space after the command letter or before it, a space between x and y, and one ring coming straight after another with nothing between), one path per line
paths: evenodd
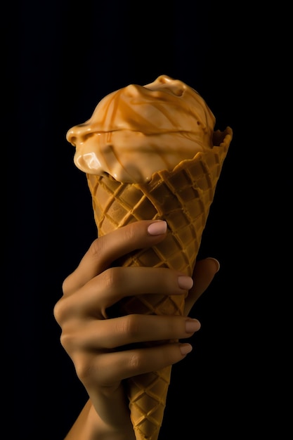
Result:
M188 315L197 299L207 290L219 268L219 261L211 257L197 261L193 272L193 287L185 299L185 315Z

